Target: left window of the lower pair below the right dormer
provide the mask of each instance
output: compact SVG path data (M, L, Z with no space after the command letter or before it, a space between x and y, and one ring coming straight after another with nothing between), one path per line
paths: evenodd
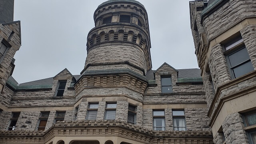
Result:
M164 110L153 111L154 130L165 130Z

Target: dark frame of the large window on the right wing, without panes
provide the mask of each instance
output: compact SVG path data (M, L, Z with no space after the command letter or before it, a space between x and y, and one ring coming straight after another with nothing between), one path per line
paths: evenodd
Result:
M229 47L229 46L225 47L225 44L227 44L228 42L226 42L225 44L222 44L222 49L223 49L223 51L224 51L224 56L226 57L226 61L227 61L227 63L228 63L228 70L229 70L229 72L230 72L230 76L231 76L232 79L235 79L235 78L240 77L240 76L238 76L238 77L235 76L234 68L238 68L239 66L242 66L242 65L246 64L247 62L251 62L251 64L252 64L252 61L251 61L250 56L249 56L249 59L248 59L248 60L245 60L245 61L241 62L240 64L236 64L236 65L233 66L233 67L231 66L229 56L231 56L232 54L235 54L236 52L239 52L240 50L246 49L246 46L245 46L245 44L244 44L243 38L240 39L240 40L238 40L238 41L235 41L236 38L238 38L238 37L241 37L241 38L242 38L242 36L239 35L239 36L236 36L236 37L234 37L234 38L232 38L231 40L228 41L228 42L234 41L233 44L235 44L236 42L238 42L238 43L236 43L234 46L232 46L231 48L229 48L228 50L226 50L226 48ZM232 44L231 44L231 45L232 45ZM231 46L231 45L230 45L230 46ZM246 49L246 51L247 51L247 54L248 54L248 50L247 50L247 49ZM249 55L249 54L248 54L248 55ZM253 68L253 67L252 67L252 68Z

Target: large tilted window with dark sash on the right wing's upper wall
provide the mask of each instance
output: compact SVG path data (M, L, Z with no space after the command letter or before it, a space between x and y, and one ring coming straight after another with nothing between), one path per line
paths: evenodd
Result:
M254 70L242 36L224 44L224 51L232 78L238 78Z

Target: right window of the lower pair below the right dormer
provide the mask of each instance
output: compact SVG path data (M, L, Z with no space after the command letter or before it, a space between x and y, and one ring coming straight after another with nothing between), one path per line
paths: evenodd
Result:
M172 119L174 130L186 130L184 110L173 110Z

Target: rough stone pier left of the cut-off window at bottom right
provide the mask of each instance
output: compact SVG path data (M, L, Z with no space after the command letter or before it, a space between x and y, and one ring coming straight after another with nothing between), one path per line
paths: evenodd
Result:
M238 112L230 114L222 123L226 144L248 144L246 132L243 130L244 122Z

